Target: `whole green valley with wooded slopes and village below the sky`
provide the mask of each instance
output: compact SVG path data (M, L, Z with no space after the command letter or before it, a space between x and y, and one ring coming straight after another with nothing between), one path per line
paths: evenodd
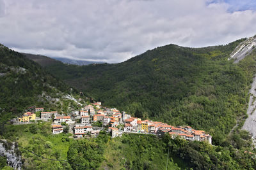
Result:
M246 110L249 98L248 111L255 110L248 91L256 55L229 58L243 42L167 45L119 64L88 66L28 59L3 46L1 139L56 159L19 148L28 169L254 168L254 114ZM40 110L35 119L31 108Z

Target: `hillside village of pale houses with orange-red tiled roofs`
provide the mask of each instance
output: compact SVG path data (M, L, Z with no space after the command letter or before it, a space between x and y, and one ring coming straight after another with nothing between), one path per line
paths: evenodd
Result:
M36 117L40 113L40 118ZM81 110L61 115L58 111L44 111L44 108L31 107L22 117L14 120L19 124L28 124L35 120L52 120L52 134L60 134L66 131L73 134L74 138L95 138L100 131L109 132L112 138L122 136L123 133L154 134L163 136L168 133L171 138L180 138L189 141L207 141L212 143L212 136L204 131L192 129L192 127L174 127L162 122L152 120L141 120L141 118L131 117L125 111L116 108L106 108L101 106L101 102L88 104Z

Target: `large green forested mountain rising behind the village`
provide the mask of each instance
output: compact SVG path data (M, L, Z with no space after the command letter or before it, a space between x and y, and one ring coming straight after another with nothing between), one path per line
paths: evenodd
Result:
M228 45L186 48L166 45L119 64L46 69L105 106L136 117L204 129L221 143L246 118L255 52L233 64L228 60L240 39Z

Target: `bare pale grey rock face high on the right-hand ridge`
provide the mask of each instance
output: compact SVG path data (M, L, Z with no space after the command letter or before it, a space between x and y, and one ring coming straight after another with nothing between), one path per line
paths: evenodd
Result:
M238 63L239 60L242 60L242 59L244 59L244 57L249 55L254 48L256 48L256 36L247 38L245 41L240 43L236 47L234 52L231 53L228 60L235 59L234 63Z

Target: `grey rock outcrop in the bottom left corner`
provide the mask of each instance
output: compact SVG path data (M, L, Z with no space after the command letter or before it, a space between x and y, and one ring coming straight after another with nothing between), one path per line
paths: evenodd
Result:
M5 141L4 139L1 139ZM14 143L13 143L14 144ZM18 148L15 148L14 145L4 143L0 141L0 155L6 156L7 164L14 169L20 170L22 167L21 155Z

